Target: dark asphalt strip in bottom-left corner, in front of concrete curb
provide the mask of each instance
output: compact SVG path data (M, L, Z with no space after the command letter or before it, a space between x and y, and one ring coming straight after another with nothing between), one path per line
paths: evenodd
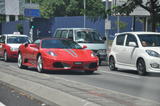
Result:
M48 106L42 101L28 96L24 92L13 89L6 83L0 82L0 106Z

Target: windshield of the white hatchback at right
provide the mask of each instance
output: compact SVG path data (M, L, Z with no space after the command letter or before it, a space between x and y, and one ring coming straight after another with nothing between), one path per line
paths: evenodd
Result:
M139 34L138 37L143 47L160 46L160 35L158 34Z

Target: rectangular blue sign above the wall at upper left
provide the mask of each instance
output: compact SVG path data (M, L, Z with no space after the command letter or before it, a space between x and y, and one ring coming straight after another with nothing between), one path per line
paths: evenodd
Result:
M40 17L40 10L39 9L25 9L24 16L26 17Z

